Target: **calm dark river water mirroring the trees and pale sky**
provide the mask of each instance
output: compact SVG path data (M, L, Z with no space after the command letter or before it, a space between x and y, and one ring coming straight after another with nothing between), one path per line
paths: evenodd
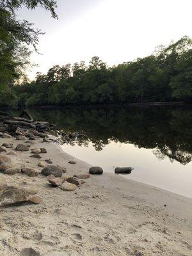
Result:
M38 120L56 124L57 131L79 132L63 149L114 173L132 166L124 177L192 198L192 108L150 106L94 109L30 109ZM115 175L115 174L114 174Z

